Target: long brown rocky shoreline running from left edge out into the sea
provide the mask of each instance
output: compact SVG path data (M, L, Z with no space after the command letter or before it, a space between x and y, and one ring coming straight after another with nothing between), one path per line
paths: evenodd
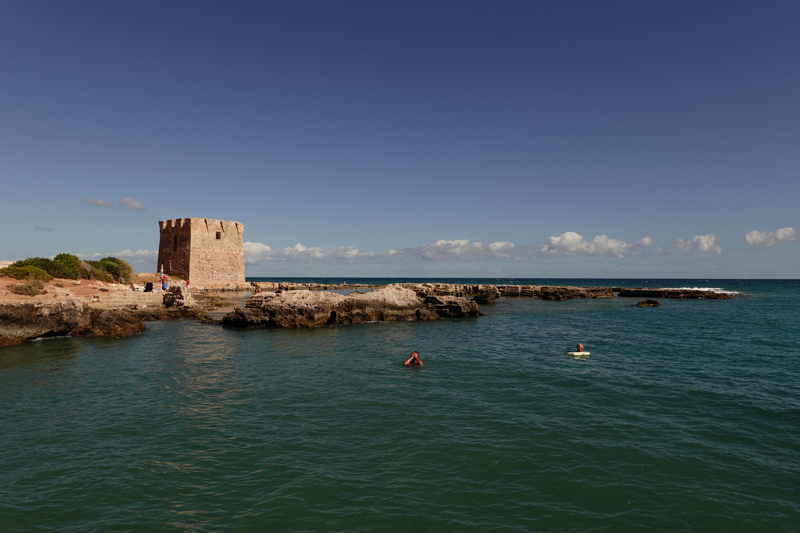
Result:
M572 299L664 298L727 300L731 294L693 289L398 283L326 285L252 283L258 292L193 291L175 284L166 292L142 293L129 287L99 288L99 296L79 298L55 289L51 299L0 299L0 346L58 335L129 337L146 330L144 321L199 319L238 328L305 328L391 320L432 321L477 317L480 305L498 298ZM331 292L352 289L348 295ZM372 289L362 292L361 289ZM471 300L467 300L471 298ZM246 299L246 302L245 302ZM241 304L244 303L242 306Z

